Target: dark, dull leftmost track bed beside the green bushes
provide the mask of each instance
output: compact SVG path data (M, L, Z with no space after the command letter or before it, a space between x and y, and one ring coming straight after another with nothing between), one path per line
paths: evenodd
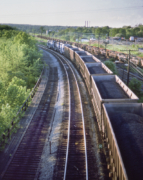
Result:
M38 109L23 134L12 159L1 174L3 180L32 180L35 178L57 99L57 88L57 68L51 68L50 77Z

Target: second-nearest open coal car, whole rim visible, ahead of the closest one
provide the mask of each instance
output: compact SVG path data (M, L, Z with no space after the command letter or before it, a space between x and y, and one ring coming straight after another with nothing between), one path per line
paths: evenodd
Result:
M99 129L103 132L105 128L102 124L103 103L134 103L139 99L117 75L92 75L91 81L92 103Z

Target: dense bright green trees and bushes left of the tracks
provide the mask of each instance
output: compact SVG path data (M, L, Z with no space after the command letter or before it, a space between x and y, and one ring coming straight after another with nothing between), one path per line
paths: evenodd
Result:
M36 40L9 26L0 26L0 136L28 97L43 64Z

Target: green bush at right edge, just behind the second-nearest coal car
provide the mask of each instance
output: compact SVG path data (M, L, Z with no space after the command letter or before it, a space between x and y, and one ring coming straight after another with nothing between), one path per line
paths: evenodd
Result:
M129 82L129 88L139 97L142 95L141 86L142 86L142 83L136 78L133 78Z

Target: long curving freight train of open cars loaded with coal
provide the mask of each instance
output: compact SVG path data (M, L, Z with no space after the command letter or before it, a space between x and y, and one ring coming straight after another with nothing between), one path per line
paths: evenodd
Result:
M108 144L109 176L114 180L143 179L143 105L126 84L98 58L83 49L49 40L68 58L85 81L99 130Z

